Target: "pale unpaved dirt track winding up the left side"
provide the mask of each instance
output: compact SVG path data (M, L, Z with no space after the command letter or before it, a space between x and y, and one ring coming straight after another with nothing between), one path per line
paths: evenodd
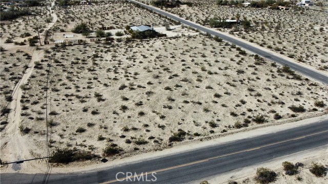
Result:
M54 17L53 22L50 22L49 25L45 27L45 31L50 29L54 25L55 21L57 20L55 14L52 14L52 17ZM44 39L44 35L40 34L40 38ZM22 75L19 76L19 80L15 82L14 87L11 86L13 87L12 94L11 94L13 100L9 104L6 104L7 105L6 107L10 108L11 110L8 114L4 114L4 115L2 114L2 116L0 117L1 121L8 120L8 126L2 127L2 129L6 128L6 130L1 133L1 156L2 158L6 157L6 159L8 160L28 159L30 158L30 149L32 150L36 149L34 145L30 144L28 140L22 137L22 133L20 132L22 130L22 127L20 126L20 116L21 116L20 112L22 111L21 103L23 102L21 101L21 97L22 97L22 91L26 90L26 88L23 86L25 86L25 84L27 83L30 77L33 78L32 72L35 63L43 57L44 49L46 49L46 47L26 48L24 46L16 46L13 43L7 43L6 49L8 49L8 51L5 52L18 50L17 48L27 52L27 54L29 54L30 57L27 58L28 62L25 64L26 66L24 67L25 71L22 71ZM13 60L11 60L11 62L12 61ZM2 70L2 74L4 74L4 71ZM3 95L3 91L2 91L2 95ZM21 168L28 170L38 167L33 164L34 163L24 163L22 165L14 164L12 165L11 169L15 171L15 170L20 170Z

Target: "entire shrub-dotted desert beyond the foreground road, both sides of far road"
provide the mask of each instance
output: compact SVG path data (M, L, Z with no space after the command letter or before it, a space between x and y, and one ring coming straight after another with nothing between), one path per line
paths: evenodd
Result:
M163 10L208 27L213 17L240 14L250 29L218 30L328 71L327 12L182 2L192 6ZM52 166L74 167L328 112L325 84L130 2L62 7L46 1L30 11L0 29L2 157L14 158L22 146L20 158L51 155ZM90 34L74 33L84 23ZM129 27L137 25L167 36L131 39ZM112 39L91 41L104 27ZM44 44L48 29L53 41L73 34L84 41ZM13 144L16 139L23 141ZM38 164L45 162L33 168Z

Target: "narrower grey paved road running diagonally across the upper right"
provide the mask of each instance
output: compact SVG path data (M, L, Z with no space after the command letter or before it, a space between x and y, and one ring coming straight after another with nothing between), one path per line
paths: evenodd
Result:
M224 39L226 41L229 41L231 43L234 43L235 45L238 45L240 48L249 50L249 51L251 51L253 53L256 53L259 56L262 56L264 58L267 58L267 59L270 59L272 61L275 61L275 62L277 62L277 63L279 63L281 65L287 64L293 70L295 70L298 73L301 73L301 74L303 74L305 76L311 77L311 78L316 79L316 80L318 80L320 82L323 82L325 84L328 84L328 76L327 75L323 75L323 74L318 73L316 71L310 70L309 68L306 68L306 66L298 65L295 62L291 62L291 61L286 60L284 58L281 58L281 57L279 57L279 56L277 56L275 54L271 54L271 53L265 52L265 51L263 51L263 50L261 50L259 48L256 48L256 47L252 46L251 44L248 44L248 43L242 42L242 41L240 41L238 39L235 39L233 37L229 37L227 35L218 33L218 32L213 31L211 29L198 26L196 24L193 24L190 21L187 21L185 19L179 18L178 16L172 15L172 14L166 12L166 11L158 10L158 9L152 7L152 6L148 6L148 5L139 3L139 2L135 2L135 1L131 1L131 0L128 0L128 1L130 1L132 3L139 4L142 7L148 8L148 9L154 11L154 12L157 12L159 14L165 15L165 16L167 16L169 18L172 18L172 19L174 19L176 21L180 21L182 24L185 24L185 25L188 25L188 26L193 27L195 29L198 29L199 31L207 32L207 33L210 33L211 35L219 36L220 38L222 38L222 39Z

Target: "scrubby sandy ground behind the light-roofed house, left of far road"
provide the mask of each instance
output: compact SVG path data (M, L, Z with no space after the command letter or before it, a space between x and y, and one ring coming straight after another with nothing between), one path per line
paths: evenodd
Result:
M69 6L66 9L56 6L58 22L54 31L70 31L76 24L86 22L95 31L101 27L125 29L126 26L154 25L163 26L171 20L149 11L137 8L125 1L97 1L90 6Z

